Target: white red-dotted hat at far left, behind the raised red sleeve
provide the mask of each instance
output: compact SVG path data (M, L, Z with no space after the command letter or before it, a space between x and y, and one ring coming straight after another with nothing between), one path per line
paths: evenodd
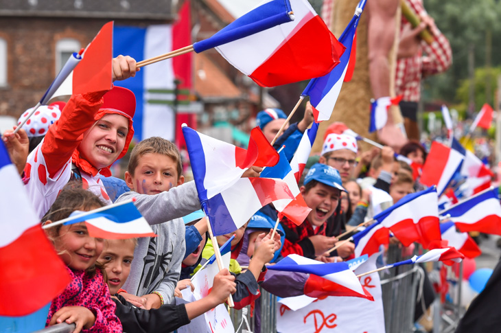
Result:
M26 110L21 117L19 117L17 124L21 124L23 119L30 114L33 108L29 108ZM42 135L47 134L47 130L49 130L49 126L54 124L57 119L61 116L61 111L59 109L58 104L51 105L41 105L39 106L35 113L27 120L26 124L23 126L26 131L28 137L41 137Z

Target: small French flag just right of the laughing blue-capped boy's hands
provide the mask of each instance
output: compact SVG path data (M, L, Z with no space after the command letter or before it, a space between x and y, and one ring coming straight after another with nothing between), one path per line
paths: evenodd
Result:
M362 255L373 255L380 251L382 244L388 244L390 240L390 231L384 227L381 222L376 221L363 231L352 236L355 243L355 257Z

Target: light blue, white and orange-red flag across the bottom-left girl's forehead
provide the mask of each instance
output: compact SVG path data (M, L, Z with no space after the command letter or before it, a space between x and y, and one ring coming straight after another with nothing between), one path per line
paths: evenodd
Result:
M64 220L65 225L85 222L89 236L108 240L156 236L148 222L134 205L124 201L92 211L73 211ZM56 222L54 222L56 223ZM46 225L45 227L51 227Z

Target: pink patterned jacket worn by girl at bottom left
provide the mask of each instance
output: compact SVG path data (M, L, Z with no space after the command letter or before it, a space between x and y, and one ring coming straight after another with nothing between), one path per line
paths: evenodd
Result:
M95 323L89 330L82 330L82 332L122 332L120 320L115 315L115 303L111 300L110 291L108 285L104 283L102 273L97 270L91 278L84 271L67 269L71 275L71 282L52 301L45 325L49 324L54 313L60 308L84 306L95 315Z

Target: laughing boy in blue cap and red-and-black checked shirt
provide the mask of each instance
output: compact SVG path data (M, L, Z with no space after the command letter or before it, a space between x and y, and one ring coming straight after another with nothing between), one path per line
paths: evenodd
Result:
M288 218L281 220L286 233L281 254L286 257L296 253L311 259L326 260L323 254L338 241L335 237L325 236L325 221L338 207L341 191L346 191L341 185L341 177L329 165L316 163L306 174L304 185L299 190L312 211L301 225L296 225ZM350 253L338 254L345 257Z

